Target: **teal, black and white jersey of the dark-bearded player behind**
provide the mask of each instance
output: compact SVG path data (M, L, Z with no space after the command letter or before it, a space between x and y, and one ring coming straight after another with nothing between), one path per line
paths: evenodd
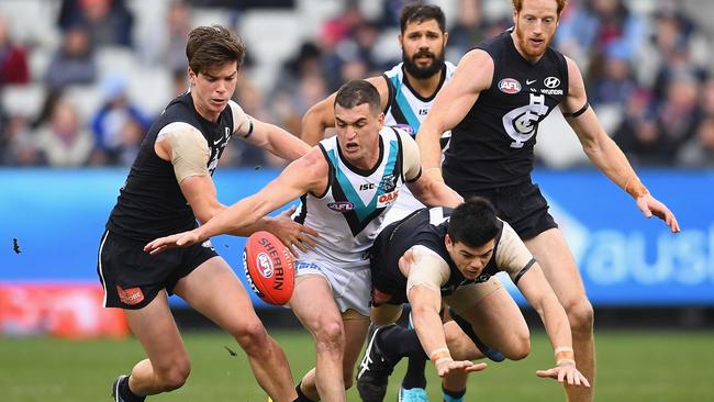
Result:
M456 66L449 62L444 63L446 68L442 70L442 80L428 98L423 98L416 92L408 80L404 79L403 63L398 64L391 70L383 74L387 80L387 88L389 88L389 101L384 109L384 125L397 126L403 129L412 136L416 135L426 114L432 110L434 98L442 89L444 83L451 79L456 72ZM448 147L451 132L447 131L442 134L442 153ZM443 160L443 158L442 158ZM409 189L404 189L397 201L397 204L389 213L384 225L398 221L413 211L424 208L419 200L412 196Z

